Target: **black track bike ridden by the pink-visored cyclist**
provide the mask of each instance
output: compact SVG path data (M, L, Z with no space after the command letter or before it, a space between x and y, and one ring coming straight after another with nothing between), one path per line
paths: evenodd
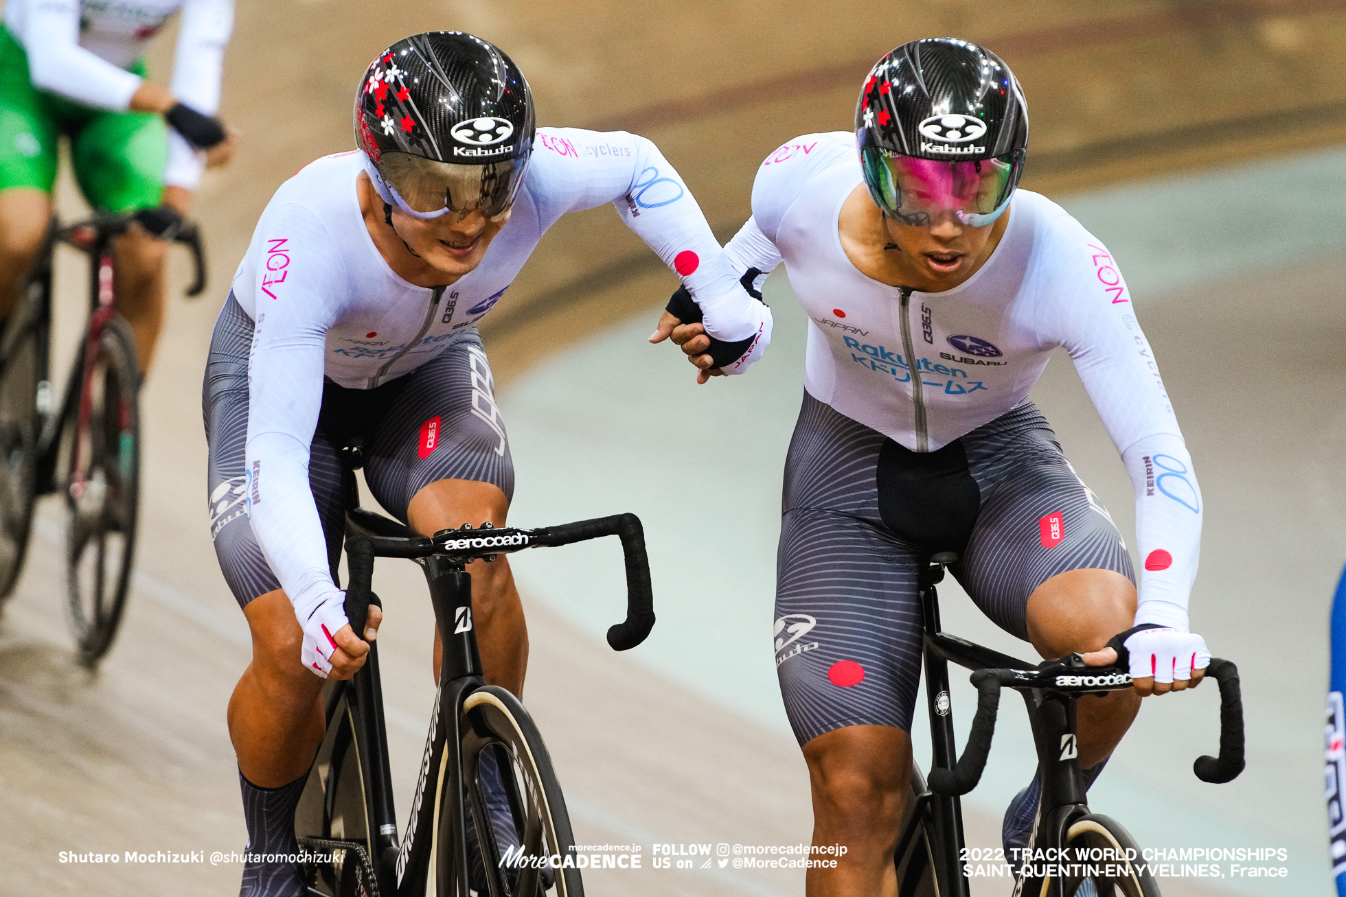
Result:
M1117 667L1085 666L1078 654L1030 664L942 632L935 584L944 578L945 566L956 561L956 554L935 554L919 580L934 757L929 783L913 764L911 789L894 853L899 896L968 897L968 854L958 797L981 779L1000 690L1015 689L1028 709L1042 771L1030 857L1055 858L1024 863L1024 858L996 857L1024 873L1015 878L1015 897L1159 897L1131 834L1117 820L1089 810L1079 769L1075 701L1086 694L1131 689L1131 675ZM961 758L953 737L949 662L975 670L972 685L977 689L977 711ZM1202 781L1226 783L1244 769L1238 670L1232 662L1215 658L1206 676L1219 683L1219 757L1199 757L1193 769ZM992 851L999 853L1000 849Z

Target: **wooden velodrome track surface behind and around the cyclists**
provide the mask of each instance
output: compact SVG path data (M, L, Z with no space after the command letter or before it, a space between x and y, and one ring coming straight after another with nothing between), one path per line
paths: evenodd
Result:
M350 91L369 58L441 27L505 47L544 124L654 139L724 235L747 215L760 159L800 133L845 128L856 85L891 46L957 34L1000 52L1032 105L1026 186L1062 199L1108 242L1163 366L1207 502L1194 623L1238 660L1248 702L1249 771L1236 784L1203 785L1190 772L1215 745L1206 689L1148 702L1093 803L1144 846L1288 851L1271 863L1287 880L1168 878L1166 894L1330 893L1319 795L1323 623L1346 545L1346 239L1334 219L1346 203L1334 179L1346 161L1346 70L1323 62L1346 52L1346 4L929 0L905 4L892 22L878 17L882 8L697 0L672 13L616 0L450 0L384 4L369 16L335 0L240 4L223 114L245 143L198 199L211 289L197 304L174 301L144 394L140 562L118 643L97 678L75 667L50 500L0 620L0 812L24 820L0 845L0 893L237 886L236 861L211 862L245 839L223 711L249 655L203 514L209 332L276 186L349 148ZM160 39L159 73L171 42ZM62 190L65 214L75 214L67 182ZM1315 221L1306 208L1327 214ZM514 519L641 514L660 596L650 644L614 655L602 631L621 601L615 545L516 565L532 637L525 699L576 839L642 849L639 870L594 871L586 886L599 896L798 893L798 871L721 869L716 851L809 838L804 764L769 647L802 315L785 278L773 278L779 335L767 360L748 378L696 389L676 352L642 342L673 280L611 211L564 221L538 256L486 331L518 464ZM180 293L186 260L172 265ZM67 300L82 276L63 258ZM66 348L81 317L62 307ZM65 366L57 359L54 370ZM1133 542L1129 484L1065 359L1036 398ZM725 492L739 499L721 520L732 546L693 535L711 514L703 504ZM590 585L556 585L568 578ZM405 819L432 699L429 611L411 565L385 562L377 588L389 598L382 658ZM956 589L944 596L950 628L1023 650ZM997 843L1000 811L1030 775L1026 728L1019 714L1004 717L985 784L966 804L975 846ZM664 843L712 855L651 869ZM62 862L61 851L120 862ZM202 854L128 862L125 851ZM975 893L1005 890L992 880Z

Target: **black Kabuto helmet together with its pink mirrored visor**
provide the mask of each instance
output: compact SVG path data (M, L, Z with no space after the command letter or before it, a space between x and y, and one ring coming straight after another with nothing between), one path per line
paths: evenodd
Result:
M870 71L855 139L886 215L923 226L953 212L979 227L1010 206L1023 173L1028 108L1000 56L968 40L926 38Z

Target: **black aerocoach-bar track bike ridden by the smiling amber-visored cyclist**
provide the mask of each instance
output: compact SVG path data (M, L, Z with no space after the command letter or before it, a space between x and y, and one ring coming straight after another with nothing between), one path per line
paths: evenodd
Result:
M347 456L350 457L350 456ZM358 507L347 461L346 616L362 632L374 557L412 558L429 586L443 663L411 819L398 839L378 678L378 644L349 680L324 687L327 733L295 815L311 894L332 897L580 897L569 818L542 737L524 705L486 685L467 563L606 535L622 541L626 620L616 651L654 625L645 537L634 514L564 526L444 530L433 537Z

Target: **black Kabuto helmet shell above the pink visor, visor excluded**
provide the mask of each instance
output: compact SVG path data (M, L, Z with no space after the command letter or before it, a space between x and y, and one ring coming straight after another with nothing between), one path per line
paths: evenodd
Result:
M1028 108L1000 56L968 40L925 38L888 52L870 71L855 109L855 136L870 192L888 214L900 195L884 183L880 159L995 160L1004 176L996 179L1003 195L995 198L993 219L1023 172Z

